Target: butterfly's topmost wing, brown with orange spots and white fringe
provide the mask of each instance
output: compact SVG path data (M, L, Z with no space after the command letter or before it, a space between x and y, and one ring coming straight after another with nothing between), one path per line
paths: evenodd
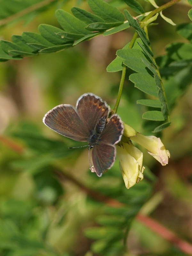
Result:
M108 115L108 105L93 93L85 93L78 100L76 109L87 130L93 131L99 119Z

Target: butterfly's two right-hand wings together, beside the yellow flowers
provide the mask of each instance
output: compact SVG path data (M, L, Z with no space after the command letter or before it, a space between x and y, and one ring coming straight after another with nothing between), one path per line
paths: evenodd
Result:
M116 147L114 144L121 140L123 130L123 122L119 116L114 114L102 132L99 143L93 147L93 171L99 177L106 169L109 169L113 165L116 157Z

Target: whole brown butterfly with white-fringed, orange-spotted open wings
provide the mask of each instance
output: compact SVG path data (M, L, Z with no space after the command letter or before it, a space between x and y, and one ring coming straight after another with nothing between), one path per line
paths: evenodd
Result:
M61 104L48 111L43 122L61 135L77 141L88 142L92 148L92 172L101 176L115 161L115 144L121 140L124 126L117 114L108 117L105 101L93 93L79 97L76 108Z

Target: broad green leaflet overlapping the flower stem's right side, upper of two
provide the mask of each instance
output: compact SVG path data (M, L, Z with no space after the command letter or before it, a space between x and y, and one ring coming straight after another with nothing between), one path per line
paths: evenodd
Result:
M124 59L124 64L138 73L148 73L146 65L142 58L145 58L143 52L138 49L122 49L117 51L117 56Z

